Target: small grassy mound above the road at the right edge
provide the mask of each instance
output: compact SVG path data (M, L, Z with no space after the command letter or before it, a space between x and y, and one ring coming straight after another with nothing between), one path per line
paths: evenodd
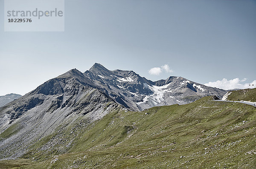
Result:
M232 91L227 100L244 100L256 102L256 88Z

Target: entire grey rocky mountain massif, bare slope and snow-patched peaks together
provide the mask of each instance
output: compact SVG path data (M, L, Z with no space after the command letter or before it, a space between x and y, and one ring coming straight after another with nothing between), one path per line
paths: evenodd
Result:
M93 122L116 109L138 111L225 93L183 77L153 82L98 63L84 73L72 69L0 107L0 159L20 157L34 141L81 118Z

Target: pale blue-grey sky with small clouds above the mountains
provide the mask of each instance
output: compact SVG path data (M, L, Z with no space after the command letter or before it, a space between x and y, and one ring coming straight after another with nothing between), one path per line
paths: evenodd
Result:
M64 32L4 32L4 0L0 11L0 95L94 63L153 81L256 83L255 0L65 0Z

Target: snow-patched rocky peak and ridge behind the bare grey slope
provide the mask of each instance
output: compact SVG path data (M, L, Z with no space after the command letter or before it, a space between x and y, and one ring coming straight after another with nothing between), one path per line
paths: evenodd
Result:
M210 95L221 98L227 92L176 76L153 82L133 71L110 71L99 63L95 63L83 76L90 79L94 88L134 111L153 106L187 104Z

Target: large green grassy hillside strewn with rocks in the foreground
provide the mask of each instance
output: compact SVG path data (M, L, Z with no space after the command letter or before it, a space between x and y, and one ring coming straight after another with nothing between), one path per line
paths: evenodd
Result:
M256 108L211 99L79 119L0 168L254 168Z

